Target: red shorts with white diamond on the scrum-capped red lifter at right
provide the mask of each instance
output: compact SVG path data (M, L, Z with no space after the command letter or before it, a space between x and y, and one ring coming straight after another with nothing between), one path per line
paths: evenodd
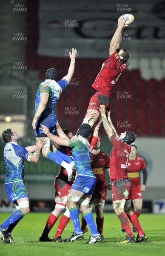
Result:
M131 199L132 183L129 178L113 180L112 202L121 199Z

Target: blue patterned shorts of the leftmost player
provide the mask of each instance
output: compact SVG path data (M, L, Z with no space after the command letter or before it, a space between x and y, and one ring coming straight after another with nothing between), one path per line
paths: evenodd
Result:
M12 203L20 198L29 197L23 181L5 184L5 188Z

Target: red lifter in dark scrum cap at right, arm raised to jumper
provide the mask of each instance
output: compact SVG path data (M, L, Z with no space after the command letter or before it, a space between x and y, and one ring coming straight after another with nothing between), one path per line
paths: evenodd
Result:
M135 141L136 137L131 131L125 131L121 133L120 137L116 137L106 117L105 106L100 105L99 108L104 129L108 134L111 143L113 144L110 160L110 179L113 185L112 201L114 212L124 225L127 233L126 238L120 243L125 244L147 241L148 237L143 232L137 215L131 210L132 183L127 176L128 160L131 152L130 144ZM136 240L134 234L132 233L129 220L137 229L138 235Z

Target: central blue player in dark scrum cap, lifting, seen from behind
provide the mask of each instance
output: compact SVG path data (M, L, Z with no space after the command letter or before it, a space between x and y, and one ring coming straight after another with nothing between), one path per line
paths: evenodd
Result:
M87 115L85 116L87 118ZM54 143L60 145L71 146L72 156L76 164L77 178L71 186L66 205L69 209L72 222L74 224L74 232L65 239L65 241L75 241L83 239L84 234L81 231L79 213L76 207L77 202L80 205L80 212L83 214L85 221L91 229L91 236L87 244L93 244L102 240L101 235L97 231L94 218L88 208L94 188L96 186L96 176L91 169L91 152L90 144L87 138L91 135L91 126L83 124L77 131L77 136L71 139L57 137L50 133L48 128L42 125L42 131L47 134L48 138ZM60 136L60 134L59 134Z

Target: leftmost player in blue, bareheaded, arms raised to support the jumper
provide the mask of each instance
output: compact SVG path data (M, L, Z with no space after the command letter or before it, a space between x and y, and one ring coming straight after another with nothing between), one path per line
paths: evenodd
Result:
M24 160L31 163L37 163L41 148L47 143L46 138L42 138L37 145L24 148L17 144L19 137L12 129L6 129L2 133L2 137L6 146L4 148L4 163L6 168L5 188L14 203L16 211L9 218L0 224L0 239L5 244L14 244L11 232L24 215L30 211L29 197L26 186L24 184ZM31 152L34 152L32 154Z

